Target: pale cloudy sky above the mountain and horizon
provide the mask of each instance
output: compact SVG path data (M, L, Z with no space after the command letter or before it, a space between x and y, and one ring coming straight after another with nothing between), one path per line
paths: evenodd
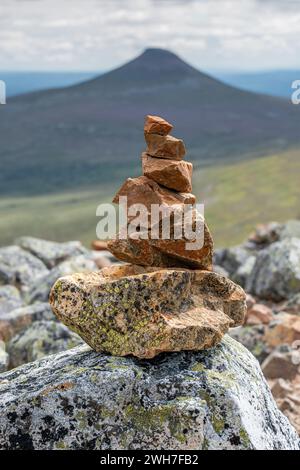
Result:
M204 70L300 68L300 0L0 0L0 70L107 70L146 47Z

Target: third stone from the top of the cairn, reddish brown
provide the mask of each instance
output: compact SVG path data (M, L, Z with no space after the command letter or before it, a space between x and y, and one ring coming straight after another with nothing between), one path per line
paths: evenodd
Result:
M144 175L156 183L175 191L192 191L192 163L152 158L146 153L142 154L142 162Z

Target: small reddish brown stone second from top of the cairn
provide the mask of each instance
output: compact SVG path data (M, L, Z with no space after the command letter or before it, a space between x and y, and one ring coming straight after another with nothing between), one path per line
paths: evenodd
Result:
M182 160L186 151L183 140L171 135L145 134L147 153L151 157Z

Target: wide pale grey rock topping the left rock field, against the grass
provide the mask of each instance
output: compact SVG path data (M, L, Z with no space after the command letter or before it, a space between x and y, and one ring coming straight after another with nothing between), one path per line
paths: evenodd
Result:
M42 260L49 269L68 258L88 253L88 250L78 241L56 243L40 238L20 237L15 243Z

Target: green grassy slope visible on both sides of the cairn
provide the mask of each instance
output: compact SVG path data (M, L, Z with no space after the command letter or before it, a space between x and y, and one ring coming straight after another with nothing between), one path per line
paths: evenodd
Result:
M259 222L300 216L300 151L210 167L194 174L194 193L206 204L216 245L241 242ZM59 241L95 238L96 207L117 184L51 196L1 198L0 245L20 235Z

